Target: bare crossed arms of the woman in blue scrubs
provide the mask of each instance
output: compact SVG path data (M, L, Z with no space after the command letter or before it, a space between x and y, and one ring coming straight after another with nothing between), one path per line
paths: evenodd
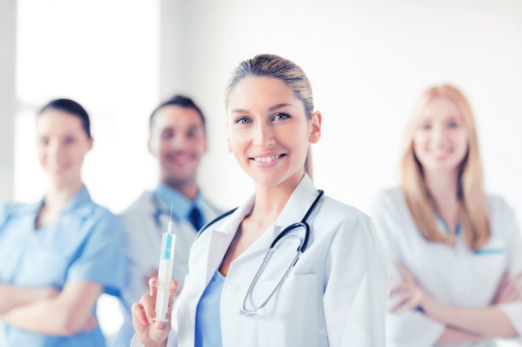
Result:
M101 292L100 284L89 281L67 282L60 292L2 284L0 320L33 332L71 336L96 327L92 308Z

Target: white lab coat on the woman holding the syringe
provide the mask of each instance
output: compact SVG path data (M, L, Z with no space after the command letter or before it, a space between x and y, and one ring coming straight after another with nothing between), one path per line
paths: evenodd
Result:
M310 218L308 249L265 306L266 314L247 317L238 312L270 243L282 229L303 218L316 196L312 180L305 175L275 224L232 262L221 295L223 347L384 346L388 264L372 220L327 196ZM252 197L194 242L185 288L174 306L169 346L175 346L176 340L180 347L194 346L200 296L253 202ZM302 237L304 232L295 234ZM268 297L293 259L296 245L292 237L282 242L247 308ZM137 340L133 345L140 346Z

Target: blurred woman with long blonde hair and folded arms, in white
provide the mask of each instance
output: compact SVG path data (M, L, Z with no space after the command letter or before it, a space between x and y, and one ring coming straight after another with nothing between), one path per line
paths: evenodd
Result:
M485 347L520 336L520 231L504 200L483 192L471 109L454 87L419 97L401 180L372 213L394 262L387 345Z

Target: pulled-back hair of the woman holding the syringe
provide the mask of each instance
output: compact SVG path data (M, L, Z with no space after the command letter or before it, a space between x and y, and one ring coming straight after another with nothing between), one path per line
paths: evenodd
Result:
M314 101L312 85L304 71L293 61L284 59L274 54L259 54L252 59L241 61L234 69L225 88L225 107L228 109L230 93L234 87L245 77L269 77L275 78L286 84L304 106L306 118L312 119ZM309 145L304 163L304 170L312 176L312 148Z

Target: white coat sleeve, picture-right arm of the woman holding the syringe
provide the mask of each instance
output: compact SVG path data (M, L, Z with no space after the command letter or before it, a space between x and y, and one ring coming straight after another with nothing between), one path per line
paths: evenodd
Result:
M388 264L370 217L344 221L326 256L323 296L330 346L385 345Z

